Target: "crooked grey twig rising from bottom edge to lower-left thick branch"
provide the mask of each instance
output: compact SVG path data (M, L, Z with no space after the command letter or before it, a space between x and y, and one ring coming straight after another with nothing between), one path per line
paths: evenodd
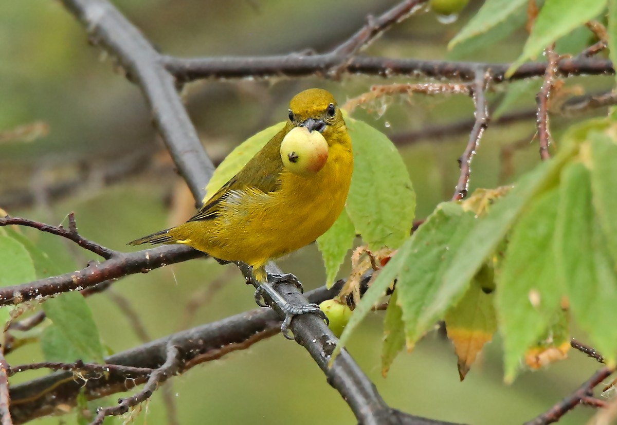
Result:
M118 400L118 405L116 406L99 408L94 421L91 422L91 425L101 425L106 416L124 415L131 407L146 401L152 396L160 384L178 373L180 368L180 350L178 350L178 347L175 345L169 345L169 347L167 347L167 360L165 360L165 363L160 366L160 368L152 371L150 378L146 382L146 385L144 385L143 389L131 397L120 398L120 400Z

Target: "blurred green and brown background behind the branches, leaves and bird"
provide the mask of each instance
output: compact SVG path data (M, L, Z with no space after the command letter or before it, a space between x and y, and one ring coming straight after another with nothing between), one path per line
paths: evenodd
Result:
M359 28L367 14L378 14L394 4L384 0L114 3L160 51L177 56L257 56L307 48L326 51ZM515 59L526 38L524 28L481 49L446 51L449 39L480 3L471 2L462 17L450 25L440 23L431 12L412 17L372 44L366 54L484 62ZM558 48L576 53L590 39L591 34L583 28L566 37ZM85 29L59 2L0 2L0 58L0 131L39 121L49 128L47 136L35 141L0 144L0 207L11 215L56 225L73 211L81 234L118 250L127 250L127 241L177 223L193 212L193 202L184 194L183 183L151 126L139 89L123 77L112 57L88 45ZM183 94L205 148L213 159L220 160L251 134L283 120L287 102L301 89L327 88L342 104L384 82L362 76L337 82L319 78L199 81ZM608 88L611 82L608 77L576 78L568 81L568 87L589 91ZM514 109L534 109L540 83L532 83ZM498 93L491 94L492 104L505 89L500 87ZM377 106L375 110L381 105ZM383 115L375 110L358 110L354 117L403 141L400 152L418 195L416 217L426 217L436 204L452 196L458 178L457 158L465 149L468 133L421 140L405 134L468 120L473 117L473 104L464 96L418 94L389 99ZM579 117L552 117L557 144L561 131L574 119ZM509 183L534 167L539 160L537 146L531 141L534 131L532 119L489 126L474 158L471 189ZM516 151L510 165L504 164L501 149L523 139L530 143ZM507 173L510 166L513 174ZM81 268L92 258L58 237L25 232L62 271ZM325 279L315 246L300 250L280 265L297 274L307 289L320 286ZM347 270L349 265L341 275ZM180 330L187 303L217 278L225 279L226 284L197 312L192 326L255 308L252 288L244 285L239 272L208 260L129 276L115 283L114 291L131 300L154 339ZM119 352L141 344L109 295L90 297L88 303L110 350ZM522 423L578 387L597 368L594 360L571 353L568 360L524 373L507 386L502 381L497 337L465 382L459 382L450 342L433 332L413 353L397 358L384 379L379 366L382 319L383 313L375 313L348 348L386 401L414 415L476 425ZM15 364L39 361L41 352L38 345L28 345L8 360ZM12 382L42 373L19 374ZM182 424L355 423L347 405L328 386L304 349L281 336L197 366L174 378L172 386ZM116 398L111 397L110 402ZM562 422L581 423L590 412L579 407ZM36 423L62 421L73 423L75 418L45 418ZM160 394L135 423L167 423Z

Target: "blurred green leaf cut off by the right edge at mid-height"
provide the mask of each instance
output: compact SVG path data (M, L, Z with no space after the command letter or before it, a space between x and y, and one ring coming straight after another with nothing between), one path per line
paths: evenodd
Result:
M613 262L617 263L617 144L603 133L590 133L591 189L595 213L607 239Z

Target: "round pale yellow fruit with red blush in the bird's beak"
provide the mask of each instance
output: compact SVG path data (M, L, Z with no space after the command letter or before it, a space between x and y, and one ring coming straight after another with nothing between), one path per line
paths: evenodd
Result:
M319 131L292 128L281 142L281 160L292 173L309 177L321 170L328 160L328 142Z

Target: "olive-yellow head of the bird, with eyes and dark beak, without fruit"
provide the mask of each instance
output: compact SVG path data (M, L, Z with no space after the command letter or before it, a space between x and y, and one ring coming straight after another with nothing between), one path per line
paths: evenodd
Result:
M288 128L306 127L309 131L319 131L329 145L336 142L334 137L344 131L345 122L341 109L334 96L323 89L302 91L289 102Z

